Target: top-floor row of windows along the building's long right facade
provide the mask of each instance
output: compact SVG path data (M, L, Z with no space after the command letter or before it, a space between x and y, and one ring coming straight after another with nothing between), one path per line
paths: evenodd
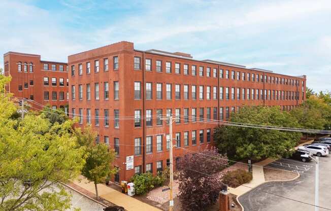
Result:
M154 66L153 66L154 65ZM155 60L155 63L152 65L152 59L146 58L145 60L145 70L146 71L152 71L152 69L155 69L156 72L162 73L163 71L163 61L162 60ZM154 67L154 68L153 68ZM166 73L172 73L173 72L173 63L171 61L166 61ZM136 56L134 58L134 68L135 69L141 69L141 57ZM179 62L175 62L175 74L181 74L183 72L184 75L192 75L196 76L198 71L198 76L201 77L213 77L217 78L217 68L211 67L205 67L205 66L198 66L197 65L191 65L191 68L189 68L189 64L181 64ZM224 75L225 74L225 75ZM229 75L231 74L231 76ZM225 71L223 69L219 69L219 78L225 78L225 79L232 79L237 81L252 81L252 82L266 82L266 83L273 83L273 84L284 84L284 85L299 85L298 80L294 79L288 79L288 78L281 78L281 77L273 77L273 76L267 76L264 74L254 74L254 73L245 73L240 71L229 71L226 69Z

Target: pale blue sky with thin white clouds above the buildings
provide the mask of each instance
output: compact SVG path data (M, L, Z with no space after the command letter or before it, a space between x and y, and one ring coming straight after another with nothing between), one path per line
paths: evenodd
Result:
M119 41L307 76L331 90L331 1L1 0L0 53L68 55ZM0 67L3 67L0 57Z

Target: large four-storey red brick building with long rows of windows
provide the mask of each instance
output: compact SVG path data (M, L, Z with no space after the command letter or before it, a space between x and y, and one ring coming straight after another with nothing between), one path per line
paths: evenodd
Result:
M118 152L117 182L135 172L156 173L169 163L169 126L162 115L181 117L173 137L194 151L213 143L217 126L200 119L226 120L243 105L291 110L306 97L305 76L194 60L180 52L140 51L129 42L70 55L68 65L70 112L81 126L92 125L97 142ZM183 154L174 149L176 158ZM133 166L127 156L134 157Z

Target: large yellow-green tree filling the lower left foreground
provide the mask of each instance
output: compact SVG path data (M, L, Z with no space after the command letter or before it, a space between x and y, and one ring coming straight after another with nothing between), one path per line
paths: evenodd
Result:
M10 118L16 111L0 76L0 210L65 210L71 196L61 183L79 175L84 151L72 121L52 125L45 115Z

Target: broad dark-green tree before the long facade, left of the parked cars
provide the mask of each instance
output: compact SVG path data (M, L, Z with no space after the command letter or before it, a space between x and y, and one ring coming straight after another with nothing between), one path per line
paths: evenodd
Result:
M299 127L297 120L279 107L243 107L231 115L231 122L282 127ZM286 156L299 142L301 133L240 126L216 128L214 139L221 154L230 159L260 159Z

